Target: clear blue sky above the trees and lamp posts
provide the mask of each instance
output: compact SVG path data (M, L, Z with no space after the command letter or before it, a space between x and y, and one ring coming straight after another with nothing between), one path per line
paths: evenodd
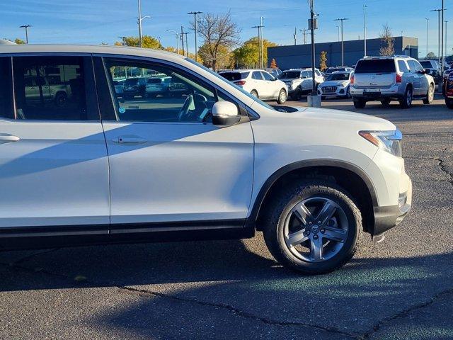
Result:
M279 45L292 45L294 27L305 28L309 16L307 0L142 0L142 15L151 16L143 21L143 33L161 37L164 46L176 45L167 29L188 27L192 16L189 11L225 13L231 15L242 29L241 39L256 35L260 16L264 16L265 38ZM445 1L446 7L451 1ZM437 12L441 0L315 0L319 16L316 41L338 40L335 18L345 21L345 40L363 38L362 5L367 4L368 38L377 38L384 23L389 23L394 35L419 39L420 55L426 52L426 21L429 18L428 46L437 52ZM445 20L453 16L453 6L445 11ZM112 44L122 35L137 33L137 0L13 0L1 1L0 38L25 39L23 24L29 24L30 43ZM452 52L453 18L448 23L447 50ZM193 50L193 35L189 47ZM450 44L448 40L451 40ZM302 35L299 35L299 42Z

